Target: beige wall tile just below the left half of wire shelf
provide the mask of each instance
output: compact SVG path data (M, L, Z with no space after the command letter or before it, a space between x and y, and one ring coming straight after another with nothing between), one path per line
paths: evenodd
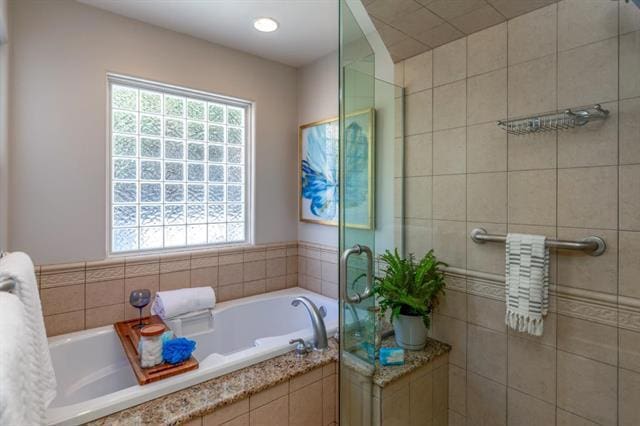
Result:
M509 170L553 169L557 165L557 132L508 135Z

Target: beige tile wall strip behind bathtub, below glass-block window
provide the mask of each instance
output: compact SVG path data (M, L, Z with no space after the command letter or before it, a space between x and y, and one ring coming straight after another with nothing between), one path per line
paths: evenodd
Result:
M36 267L47 334L135 318L131 290L211 286L222 302L298 285L298 243ZM149 307L144 309L148 315Z

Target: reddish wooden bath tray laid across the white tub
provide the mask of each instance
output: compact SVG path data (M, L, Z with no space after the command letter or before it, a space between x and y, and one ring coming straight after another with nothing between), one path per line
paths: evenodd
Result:
M162 324L166 327L164 321L162 321L162 319L157 315L144 317L142 320L145 325ZM140 366L140 357L138 356L140 329L135 327L139 322L139 319L120 321L113 324L113 327L116 329L116 333L122 342L124 353L127 355L127 358L129 358L131 368L133 369L136 379L138 379L138 383L140 383L140 385L146 385L147 383L156 382L158 380L166 379L167 377L186 373L187 371L198 368L198 361L193 356L180 364L168 364L163 362L162 364L158 364L150 368L142 368ZM169 327L167 327L167 330L168 329Z

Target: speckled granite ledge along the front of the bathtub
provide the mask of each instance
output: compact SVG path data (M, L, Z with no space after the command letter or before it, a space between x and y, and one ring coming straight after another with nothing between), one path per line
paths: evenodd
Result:
M338 342L332 338L325 352L313 352L304 358L296 358L291 351L88 424L179 425L337 360Z

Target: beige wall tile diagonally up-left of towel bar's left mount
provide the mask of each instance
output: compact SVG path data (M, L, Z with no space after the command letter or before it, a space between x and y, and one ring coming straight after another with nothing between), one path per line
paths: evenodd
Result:
M467 216L466 175L433 177L433 218L464 221Z

